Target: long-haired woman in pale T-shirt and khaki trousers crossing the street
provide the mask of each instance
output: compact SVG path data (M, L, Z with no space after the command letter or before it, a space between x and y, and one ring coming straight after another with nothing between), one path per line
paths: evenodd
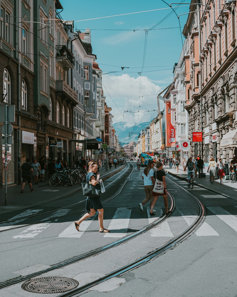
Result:
M143 205L148 203L148 201L150 201L150 208L151 208L151 203L153 202L153 199L154 199L154 196L152 195L152 191L155 185L154 171L153 171L154 165L155 165L155 162L149 160L147 167L142 172L142 179L144 181L146 198L142 201L142 203L138 204L140 211L143 211ZM153 209L153 212L155 212L154 209Z

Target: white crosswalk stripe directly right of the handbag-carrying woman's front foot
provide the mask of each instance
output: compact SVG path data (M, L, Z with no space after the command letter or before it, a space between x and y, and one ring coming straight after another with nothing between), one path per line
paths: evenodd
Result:
M108 230L125 230L127 231L132 209L119 207L111 220ZM104 237L124 237L126 233L105 233Z

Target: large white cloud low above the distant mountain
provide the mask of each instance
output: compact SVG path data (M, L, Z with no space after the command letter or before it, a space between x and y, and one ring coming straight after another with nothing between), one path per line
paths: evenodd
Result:
M139 104L140 80L141 97ZM104 95L106 96L106 102L108 106L111 106L112 108L111 113L114 116L114 123L124 121L125 119L127 127L132 127L135 123L151 121L156 117L157 96L144 95L158 94L161 91L161 88L146 76L134 78L128 74L119 76L105 75L103 76L102 82L105 86L103 87L103 90ZM119 110L115 104L118 106ZM138 107L139 105L140 108ZM154 109L155 111L153 111ZM137 112L138 110L139 113Z

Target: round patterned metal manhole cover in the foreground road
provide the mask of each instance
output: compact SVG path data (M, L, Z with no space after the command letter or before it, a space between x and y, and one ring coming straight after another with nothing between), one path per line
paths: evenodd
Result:
M75 289L79 282L67 277L41 277L25 282L23 290L33 293L52 294L63 293Z

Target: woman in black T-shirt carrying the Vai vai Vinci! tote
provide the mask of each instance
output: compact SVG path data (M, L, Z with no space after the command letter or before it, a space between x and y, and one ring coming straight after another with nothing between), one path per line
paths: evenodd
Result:
M154 192L155 187L153 188L152 196L154 197L154 199L153 199L153 201L151 203L151 207L150 207L150 215L151 216L155 215L153 210L154 210L154 206L156 204L156 201L158 199L158 196L163 196L163 198L164 198L165 214L170 214L171 213L171 211L169 211L169 209L168 209L168 199L167 199L165 172L164 172L164 170L162 170L163 164L161 162L157 162L156 163L156 168L157 168L157 170L153 174L153 178L155 180L155 187L156 187L157 183L160 183L161 186L164 188L164 192L163 193Z

